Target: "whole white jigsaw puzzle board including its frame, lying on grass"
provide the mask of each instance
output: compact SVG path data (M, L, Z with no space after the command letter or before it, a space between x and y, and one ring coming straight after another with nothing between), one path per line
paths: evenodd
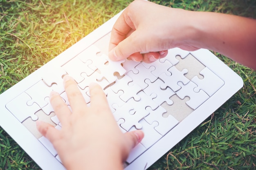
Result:
M65 170L36 120L61 123L49 103L56 91L69 106L63 76L73 77L90 106L90 82L105 91L122 132L144 131L125 170L148 168L242 86L243 80L206 49L174 48L153 63L108 59L110 31L121 12L0 95L0 126L47 170Z

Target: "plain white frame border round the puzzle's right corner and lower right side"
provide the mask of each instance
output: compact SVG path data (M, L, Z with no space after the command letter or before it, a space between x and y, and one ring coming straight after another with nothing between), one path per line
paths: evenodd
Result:
M190 53L202 64L213 71L213 73L223 79L225 84L209 99L207 99L204 104L199 106L189 116L177 124L177 126L175 126L170 132L159 139L156 144L146 150L144 155L135 159L135 161L126 167L125 170L149 168L155 161L166 153L166 150L173 148L178 142L186 137L186 135L200 125L205 119L207 119L207 117L209 117L215 110L222 106L222 104L224 104L240 88L243 87L243 79L209 50L200 49ZM218 67L216 67L216 65L218 65ZM193 124L191 124L191 122L193 122ZM166 146L168 149L162 146ZM157 152L155 152L155 150L157 150ZM146 155L154 155L154 157L148 158ZM157 157L158 159L156 159Z

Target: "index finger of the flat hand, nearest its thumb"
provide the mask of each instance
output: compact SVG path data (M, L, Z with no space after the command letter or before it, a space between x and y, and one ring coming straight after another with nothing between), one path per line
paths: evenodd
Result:
M108 106L108 100L106 94L103 92L101 86L97 83L91 83L89 85L91 96L91 107L100 107L110 109Z

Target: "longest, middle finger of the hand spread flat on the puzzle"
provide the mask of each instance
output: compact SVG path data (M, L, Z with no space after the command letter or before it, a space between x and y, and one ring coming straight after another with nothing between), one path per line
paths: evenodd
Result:
M64 80L64 88L67 93L68 101L70 102L70 106L72 108L73 113L76 112L76 109L86 107L85 99L79 90L75 80L70 76L65 76Z

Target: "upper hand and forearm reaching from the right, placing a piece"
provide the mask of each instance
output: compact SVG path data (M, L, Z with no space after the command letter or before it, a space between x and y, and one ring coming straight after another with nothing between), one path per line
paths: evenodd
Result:
M250 18L135 0L113 26L108 55L114 61L130 58L150 63L174 47L187 51L203 48L256 69L255 28L256 20Z

